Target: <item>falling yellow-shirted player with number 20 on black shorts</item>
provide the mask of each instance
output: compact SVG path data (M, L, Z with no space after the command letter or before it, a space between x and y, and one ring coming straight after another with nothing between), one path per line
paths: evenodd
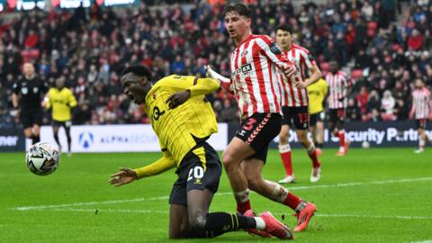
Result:
M213 238L237 229L260 229L278 238L293 238L270 212L247 217L209 212L219 187L221 165L217 152L206 142L218 131L216 116L204 94L220 84L211 78L166 76L151 85L147 67L127 67L121 76L123 91L135 103L144 104L159 139L163 156L132 170L121 168L111 175L116 186L158 175L176 167L178 179L169 197L169 238Z

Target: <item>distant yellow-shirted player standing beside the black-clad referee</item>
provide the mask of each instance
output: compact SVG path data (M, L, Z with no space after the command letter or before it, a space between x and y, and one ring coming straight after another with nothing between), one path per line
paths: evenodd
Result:
M46 109L52 108L52 131L54 133L54 139L58 144L58 149L61 151L61 144L58 139L58 130L60 127L65 129L67 137L67 155L72 155L71 144L72 139L70 137L70 127L72 126L71 109L76 106L76 99L72 91L65 87L64 77L58 77L56 80L56 87L51 87L48 94L42 103Z

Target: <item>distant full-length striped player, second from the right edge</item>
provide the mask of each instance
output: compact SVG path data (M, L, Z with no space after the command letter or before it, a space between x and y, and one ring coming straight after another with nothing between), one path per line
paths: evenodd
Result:
M329 85L329 131L339 138L337 156L345 156L350 141L345 137L345 118L347 109L348 87L351 85L347 74L338 69L336 61L330 62L330 71L326 75Z

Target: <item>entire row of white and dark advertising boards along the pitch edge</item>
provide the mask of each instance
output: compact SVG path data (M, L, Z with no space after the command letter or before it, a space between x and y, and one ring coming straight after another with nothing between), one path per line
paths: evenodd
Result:
M238 130L238 123L219 123L219 132L209 139L217 150L223 150ZM371 147L417 147L419 138L414 121L385 122L347 122L347 139L353 147L361 147L367 141ZM432 137L432 126L429 122L428 135ZM135 125L86 125L72 126L72 150L74 152L151 152L160 151L156 134L148 124ZM66 148L66 136L63 129L59 131L60 143ZM52 128L42 126L40 140L55 143ZM297 137L290 131L290 143L299 148ZM338 147L338 138L324 132L324 146ZM27 139L26 148L30 147ZM277 148L278 138L270 144ZM0 130L0 151L23 151L24 138L22 131Z

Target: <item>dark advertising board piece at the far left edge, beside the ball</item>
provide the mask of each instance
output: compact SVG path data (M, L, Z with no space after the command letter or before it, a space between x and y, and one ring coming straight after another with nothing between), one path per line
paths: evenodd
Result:
M0 128L0 152L23 151L24 148L23 130Z

